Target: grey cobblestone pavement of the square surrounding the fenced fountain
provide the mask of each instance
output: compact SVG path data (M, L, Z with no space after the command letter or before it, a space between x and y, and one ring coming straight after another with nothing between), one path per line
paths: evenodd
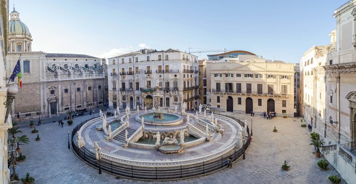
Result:
M224 113L225 114L225 113ZM246 118L249 115L234 114L235 118ZM26 160L16 167L20 178L26 172L35 177L36 184L137 184L147 183L119 178L89 166L77 158L68 149L68 129L89 119L83 116L74 119L74 124L63 128L58 123L38 126L41 141L35 141L37 134L32 134L29 126L20 129L30 140L30 144L20 145ZM253 117L252 143L246 152L246 160L238 160L231 169L225 168L208 176L171 182L171 184L330 184L329 175L339 174L329 166L326 171L320 170L316 162L307 128L300 127L296 118L277 117L265 120ZM249 125L250 127L251 125ZM273 127L278 129L272 132ZM252 129L250 127L250 131ZM289 171L281 169L284 160L291 166ZM10 167L12 170L12 167ZM339 176L340 177L340 176ZM342 183L345 183L342 181Z

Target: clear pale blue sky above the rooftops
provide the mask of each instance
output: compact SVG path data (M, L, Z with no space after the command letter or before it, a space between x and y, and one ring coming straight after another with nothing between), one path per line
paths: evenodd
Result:
M33 51L109 57L142 47L227 48L299 62L313 45L330 43L333 12L346 1L10 0L10 12L15 4Z

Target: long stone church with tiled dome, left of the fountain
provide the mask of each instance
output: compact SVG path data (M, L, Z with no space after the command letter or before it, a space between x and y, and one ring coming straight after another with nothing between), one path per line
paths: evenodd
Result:
M6 76L10 77L20 54L23 73L23 88L12 106L13 118L59 115L104 104L105 77L101 59L32 51L32 36L15 8L10 13L8 33Z

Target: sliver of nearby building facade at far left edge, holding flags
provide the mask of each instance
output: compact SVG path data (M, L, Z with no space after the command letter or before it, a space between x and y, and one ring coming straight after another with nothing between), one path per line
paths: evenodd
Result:
M12 119L11 114L5 120L6 111L10 110L6 108L4 104L7 100L10 100L9 96L7 96L8 88L6 86L5 80L5 66L6 66L6 47L8 39L7 39L7 21L9 15L9 1L8 0L0 0L0 184L8 184L10 181L10 169L8 169L7 165L7 129L12 127ZM6 97L7 96L7 97ZM10 108L10 107L8 107Z

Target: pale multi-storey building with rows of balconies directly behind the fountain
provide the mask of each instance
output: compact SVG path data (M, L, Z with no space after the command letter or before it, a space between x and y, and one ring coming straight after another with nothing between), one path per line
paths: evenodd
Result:
M199 104L198 57L168 49L142 49L109 58L109 107L152 108L157 82L162 87L161 106L187 109Z

